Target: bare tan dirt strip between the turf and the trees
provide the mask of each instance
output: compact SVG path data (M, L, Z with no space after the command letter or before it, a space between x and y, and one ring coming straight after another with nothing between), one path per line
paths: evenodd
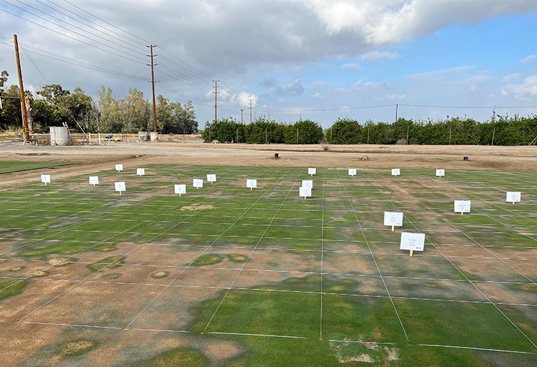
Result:
M274 159L278 153L279 158ZM463 157L468 157L464 161ZM46 146L0 143L0 161L78 163L2 175L1 186L18 185L53 170L55 178L149 164L217 164L229 166L327 166L344 168L445 168L537 171L537 146L479 145L248 145L203 143L164 137L157 142L102 142L101 145Z

